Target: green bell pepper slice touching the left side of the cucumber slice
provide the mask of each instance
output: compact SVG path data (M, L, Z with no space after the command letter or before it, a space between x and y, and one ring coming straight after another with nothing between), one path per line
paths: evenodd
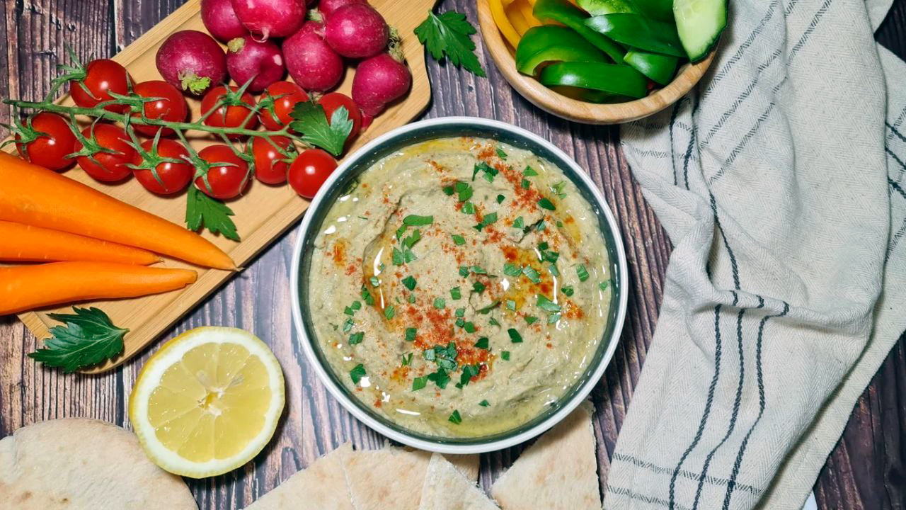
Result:
M686 56L677 26L672 23L627 13L594 16L585 23L618 43L656 54Z

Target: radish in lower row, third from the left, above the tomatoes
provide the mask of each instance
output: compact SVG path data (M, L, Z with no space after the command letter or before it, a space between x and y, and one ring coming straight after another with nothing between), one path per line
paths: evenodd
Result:
M326 91L340 83L346 70L340 55L324 42L323 25L306 22L284 41L286 69L306 91Z

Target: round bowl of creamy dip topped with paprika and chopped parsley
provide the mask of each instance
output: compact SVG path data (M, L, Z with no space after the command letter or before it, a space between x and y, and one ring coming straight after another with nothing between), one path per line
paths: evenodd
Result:
M305 355L343 407L400 443L521 443L578 406L616 348L616 221L532 132L470 117L388 132L342 162L300 229Z

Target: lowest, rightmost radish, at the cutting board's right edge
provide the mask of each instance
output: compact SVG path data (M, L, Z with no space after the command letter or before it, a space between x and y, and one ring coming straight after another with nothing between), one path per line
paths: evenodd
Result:
M352 78L352 100L361 113L376 116L387 103L399 99L412 84L412 74L406 64L390 56L377 54L361 61Z

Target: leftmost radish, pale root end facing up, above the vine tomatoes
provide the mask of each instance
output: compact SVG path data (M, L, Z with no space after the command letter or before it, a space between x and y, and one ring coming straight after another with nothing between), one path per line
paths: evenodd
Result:
M170 34L155 60L164 80L189 93L201 94L226 81L226 54L213 37L198 30Z

